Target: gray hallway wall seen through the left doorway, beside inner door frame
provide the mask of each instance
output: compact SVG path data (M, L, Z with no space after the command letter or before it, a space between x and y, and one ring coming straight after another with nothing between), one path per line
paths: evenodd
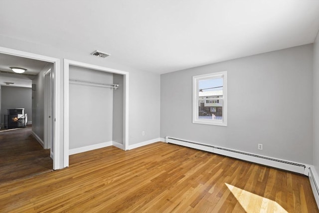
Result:
M53 70L53 64L48 63L32 80L35 90L32 90L32 131L44 141L44 74Z

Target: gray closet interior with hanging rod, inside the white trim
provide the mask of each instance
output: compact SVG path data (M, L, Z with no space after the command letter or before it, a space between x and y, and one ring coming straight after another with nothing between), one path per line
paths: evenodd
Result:
M69 66L70 150L123 144L123 92L121 74Z

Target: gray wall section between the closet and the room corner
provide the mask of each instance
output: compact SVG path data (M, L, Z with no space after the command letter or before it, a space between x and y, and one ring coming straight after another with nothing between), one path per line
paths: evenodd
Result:
M151 72L130 75L129 92L129 145L159 138L160 75Z

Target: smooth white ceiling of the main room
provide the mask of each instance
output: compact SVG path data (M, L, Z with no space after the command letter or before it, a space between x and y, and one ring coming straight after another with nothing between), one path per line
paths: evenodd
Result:
M1 0L0 34L166 73L313 43L319 0Z

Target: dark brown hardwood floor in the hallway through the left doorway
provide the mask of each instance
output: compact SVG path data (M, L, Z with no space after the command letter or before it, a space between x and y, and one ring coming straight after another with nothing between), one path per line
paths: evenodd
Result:
M0 183L47 172L52 168L50 150L44 150L35 140L31 127L0 131Z

